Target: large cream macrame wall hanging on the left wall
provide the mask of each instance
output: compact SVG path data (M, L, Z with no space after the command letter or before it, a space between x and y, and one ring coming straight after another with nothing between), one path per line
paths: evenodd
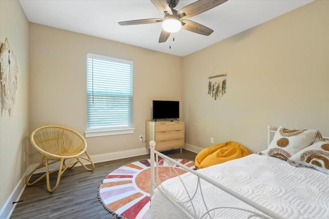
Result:
M19 64L15 53L10 49L8 39L0 42L0 83L1 83L1 112L13 116L16 102L16 90L19 74Z

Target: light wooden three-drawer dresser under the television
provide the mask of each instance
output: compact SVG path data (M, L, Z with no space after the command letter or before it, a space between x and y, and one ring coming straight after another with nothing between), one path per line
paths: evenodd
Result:
M155 141L155 150L167 150L185 146L185 123L183 121L147 121L146 147L150 148L150 141Z

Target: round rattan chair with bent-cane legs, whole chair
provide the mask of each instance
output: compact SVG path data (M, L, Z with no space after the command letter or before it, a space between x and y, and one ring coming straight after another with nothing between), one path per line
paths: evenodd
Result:
M92 171L95 165L87 153L87 143L84 138L76 131L63 126L43 126L35 129L30 135L30 142L33 147L38 150L41 156L40 164L30 172L25 179L26 185L30 186L39 182L46 176L47 189L53 192L57 189L62 174L66 169L74 167L80 163L86 170ZM86 156L83 157L82 155ZM65 163L67 160L67 164ZM88 168L82 160L87 161L92 167ZM56 169L49 170L49 165L60 162L60 166ZM38 169L45 167L46 172L34 180L30 181L31 175ZM49 182L49 174L58 171L56 185L51 188Z

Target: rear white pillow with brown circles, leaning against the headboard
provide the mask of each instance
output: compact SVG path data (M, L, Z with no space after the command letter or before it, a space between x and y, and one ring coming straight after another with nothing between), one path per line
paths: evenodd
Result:
M289 130L280 126L267 148L267 154L288 160L293 154L312 145L316 139L318 130Z

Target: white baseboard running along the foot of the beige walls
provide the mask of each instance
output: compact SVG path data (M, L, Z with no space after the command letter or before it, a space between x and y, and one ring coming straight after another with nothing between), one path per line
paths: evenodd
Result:
M192 151L194 153L200 152L203 148L196 147L194 145L189 145L185 144L185 149ZM106 162L106 161L113 161L113 160L118 160L121 158L127 158L127 157L132 157L132 156L139 156L139 155L144 155L150 153L150 150L147 148L137 148L133 150L127 150L127 151L118 151L118 152L113 152L113 153L106 153L106 154L98 154L98 155L92 155L90 156L93 160L94 163L101 163L101 162ZM86 163L88 164L88 163ZM77 164L77 166L81 164ZM21 197L24 189L25 189L25 176L29 174L38 164L32 164L30 165L27 170L25 171L24 176L21 178L20 182L17 183L16 187L14 188L13 192L9 196L7 202L3 206L3 208L0 211L0 218L5 218L9 219L11 213L13 212L15 208L15 204L12 204L12 202L16 202L19 200ZM56 169L59 166L57 164L51 165L50 170ZM45 172L45 168L39 169L35 171L35 173L41 173Z

